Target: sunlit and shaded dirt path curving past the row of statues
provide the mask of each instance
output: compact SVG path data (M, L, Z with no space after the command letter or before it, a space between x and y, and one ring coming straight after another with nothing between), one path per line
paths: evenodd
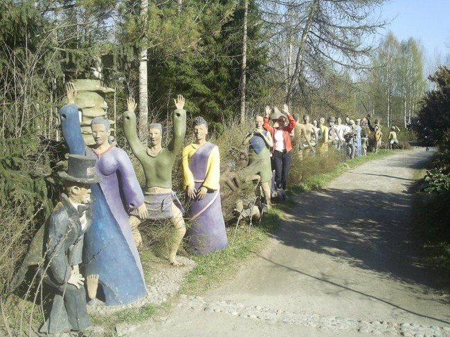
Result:
M431 154L372 161L303 194L271 248L202 298L129 336L450 336L410 225L408 186Z

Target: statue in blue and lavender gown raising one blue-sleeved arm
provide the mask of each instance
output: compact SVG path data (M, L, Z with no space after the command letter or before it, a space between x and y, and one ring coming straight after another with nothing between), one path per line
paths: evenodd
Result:
M141 259L129 226L129 213L134 210L141 219L147 217L144 197L127 154L109 145L107 118L91 122L96 145L84 145L78 109L74 102L76 88L67 85L69 104L60 110L62 134L71 154L96 158L100 184L91 185L93 224L84 239L83 262L88 275L89 298L95 298L97 283L105 304L129 304L145 297L147 291ZM89 275L98 274L98 279Z

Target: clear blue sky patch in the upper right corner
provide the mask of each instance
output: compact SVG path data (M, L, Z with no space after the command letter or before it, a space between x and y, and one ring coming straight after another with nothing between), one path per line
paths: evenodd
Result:
M425 60L450 55L450 0L390 0L381 8L383 19L393 21L386 28L399 41L420 40Z

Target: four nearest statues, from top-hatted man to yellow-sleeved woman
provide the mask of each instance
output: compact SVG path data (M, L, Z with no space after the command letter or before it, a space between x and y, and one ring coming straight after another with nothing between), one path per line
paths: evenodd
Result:
M94 89L96 90L96 89ZM102 91L98 88L98 91ZM29 268L54 293L51 310L40 331L60 334L84 331L91 323L87 298L106 305L130 304L147 294L137 247L142 241L138 224L147 219L170 219L174 227L169 262L181 266L177 251L186 233L185 210L172 191L172 167L186 134L185 100L178 95L173 113L172 138L161 145L160 124L149 125L149 145L136 134L136 104L127 100L123 127L132 152L145 172L141 189L132 162L114 145L111 122L100 114L90 120L91 146L87 146L80 118L77 86L66 84L68 104L60 109L62 134L69 149L68 169L60 174L66 194L30 245L17 273L17 287ZM87 102L84 107L91 104ZM96 104L106 109L106 104ZM81 121L81 123L80 123ZM219 149L206 141L208 124L195 118L194 143L183 151L183 185L192 200L190 247L206 254L228 245L219 192ZM85 289L86 286L86 289Z

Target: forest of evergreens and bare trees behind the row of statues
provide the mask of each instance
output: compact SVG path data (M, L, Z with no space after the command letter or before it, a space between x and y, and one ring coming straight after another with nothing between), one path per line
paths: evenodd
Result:
M178 93L210 134L287 102L293 113L381 118L404 129L427 84L417 40L384 35L384 0L4 0L0 3L0 239L2 294L33 230L59 197L64 84L98 78L108 118L138 101L170 129ZM447 71L448 73L448 71ZM405 133L404 133L405 135ZM236 140L240 145L241 137ZM130 153L130 152L128 152ZM19 245L15 245L19 242ZM14 247L22 247L22 250Z

